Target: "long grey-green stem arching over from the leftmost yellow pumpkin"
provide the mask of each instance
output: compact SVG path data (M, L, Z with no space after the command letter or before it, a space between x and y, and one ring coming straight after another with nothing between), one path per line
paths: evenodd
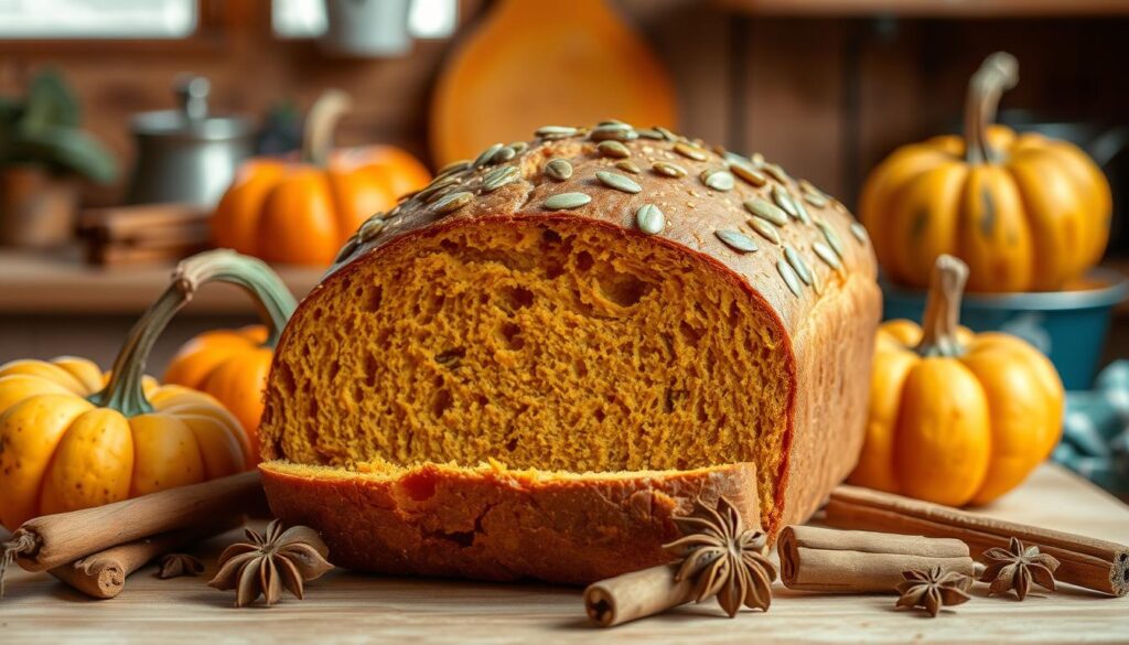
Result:
M114 359L110 382L89 401L98 407L113 408L126 417L151 412L152 404L146 399L141 385L154 342L173 316L192 300L196 290L213 281L238 285L255 296L260 313L271 328L266 342L273 347L297 307L294 296L278 274L262 260L240 255L230 249L198 253L177 264L172 284L133 324Z

